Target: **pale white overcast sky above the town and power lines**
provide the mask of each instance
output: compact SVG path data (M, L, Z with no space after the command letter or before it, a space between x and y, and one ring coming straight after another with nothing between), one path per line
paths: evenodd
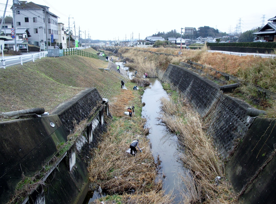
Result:
M30 2L30 1L28 1ZM70 15L70 29L79 26L82 37L84 32L91 39L145 39L147 36L176 29L180 33L181 27L210 26L219 31L232 33L241 18L241 31L247 31L262 25L263 15L265 24L267 19L276 16L276 6L257 0L241 1L62 1L62 0L33 0L36 4L49 6L49 11L59 16L58 22L68 28ZM6 0L0 0L0 15L4 13ZM6 15L12 15L9 0ZM73 17L73 18L71 18ZM74 29L73 33L75 32Z

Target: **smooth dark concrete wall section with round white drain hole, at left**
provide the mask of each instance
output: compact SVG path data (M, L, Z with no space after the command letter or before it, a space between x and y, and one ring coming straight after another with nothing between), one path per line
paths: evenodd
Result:
M0 203L7 203L22 173L32 177L40 171L67 133L57 115L1 122L0 129Z

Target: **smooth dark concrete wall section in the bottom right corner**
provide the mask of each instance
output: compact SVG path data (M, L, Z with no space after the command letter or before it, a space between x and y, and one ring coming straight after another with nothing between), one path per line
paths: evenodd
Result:
M276 119L256 118L225 166L240 202L276 203L275 149Z

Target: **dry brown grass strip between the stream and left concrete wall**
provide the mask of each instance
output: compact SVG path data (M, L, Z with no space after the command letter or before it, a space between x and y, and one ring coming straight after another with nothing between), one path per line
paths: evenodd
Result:
M94 159L89 166L89 179L109 195L93 203L172 203L171 194L162 190L162 178L156 180L160 161L153 158L151 145L144 128L146 119L141 117L143 104L139 90L121 90L110 100L113 120L103 141L93 151ZM135 116L122 115L128 106L135 106ZM126 153L132 140L139 139L142 152L134 157Z

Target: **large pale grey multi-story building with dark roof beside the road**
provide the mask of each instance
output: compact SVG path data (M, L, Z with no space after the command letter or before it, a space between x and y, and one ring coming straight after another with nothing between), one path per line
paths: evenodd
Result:
M49 12L48 6L35 4L33 2L18 1L15 5L16 28L27 28L31 37L29 44L40 46L41 43L57 41L59 39L58 16ZM47 33L46 33L47 32ZM47 35L46 35L47 34Z

